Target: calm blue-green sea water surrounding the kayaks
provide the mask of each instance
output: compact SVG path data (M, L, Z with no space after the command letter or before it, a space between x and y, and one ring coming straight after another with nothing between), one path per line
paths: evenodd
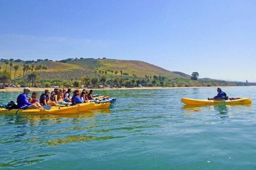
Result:
M98 90L118 102L79 114L2 114L0 169L256 169L256 87L222 88L251 98L247 106L180 102L215 89ZM1 92L0 103L18 94Z

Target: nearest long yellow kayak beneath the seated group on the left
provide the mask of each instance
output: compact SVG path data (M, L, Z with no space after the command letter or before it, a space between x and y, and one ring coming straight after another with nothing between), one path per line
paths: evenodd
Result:
M5 109L0 108L0 113L7 114L62 114L62 113L78 113L80 111L86 111L94 109L94 103L82 103L74 106L60 107L53 106L50 110L42 109Z

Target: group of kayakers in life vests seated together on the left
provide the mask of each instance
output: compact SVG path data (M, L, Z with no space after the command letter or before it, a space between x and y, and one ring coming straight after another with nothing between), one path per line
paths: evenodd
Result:
M55 88L53 92L51 92L51 95L49 97L50 91L45 90L44 93L42 93L39 97L39 100L37 99L38 93L33 92L31 97L28 98L28 94L30 93L32 89L30 88L24 88L23 94L20 94L17 97L17 106L20 109L41 109L42 106L50 105L50 106L58 106L58 103L62 102L71 102L72 104L80 104L80 103L86 103L88 100L94 100L93 97L93 90L90 90L90 92L83 89L82 93L80 93L79 89L74 90L72 98L70 99L70 93L71 89L69 88L67 91L66 89L58 89Z

